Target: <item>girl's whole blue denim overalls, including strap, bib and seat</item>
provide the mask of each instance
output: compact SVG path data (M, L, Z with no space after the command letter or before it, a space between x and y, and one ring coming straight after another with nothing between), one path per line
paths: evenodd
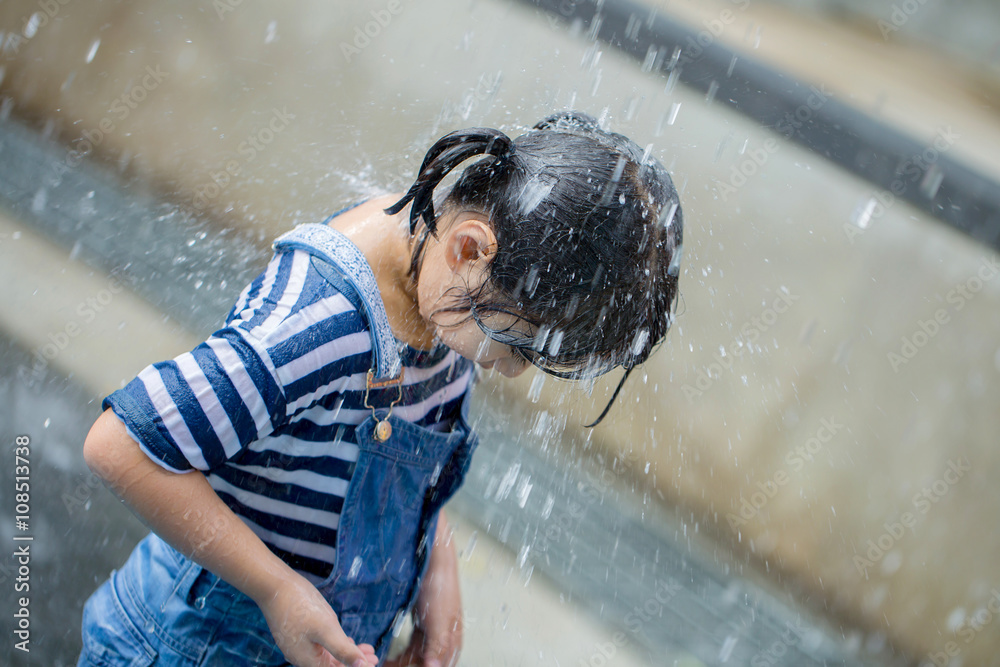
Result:
M364 255L326 224L301 225L274 247L309 252L369 323L373 414L356 429L360 451L341 510L336 564L318 588L347 636L372 644L384 660L394 628L416 601L438 511L461 484L476 446L469 395L448 433L391 415L402 364ZM384 442L376 436L381 422L391 427ZM250 598L155 534L88 600L83 640L80 666L287 664Z

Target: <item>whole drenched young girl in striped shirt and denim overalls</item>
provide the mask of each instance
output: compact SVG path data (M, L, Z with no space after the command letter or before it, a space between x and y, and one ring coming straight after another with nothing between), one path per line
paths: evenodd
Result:
M394 663L457 660L473 362L623 367L596 424L670 327L681 209L580 113L453 132L395 199L281 236L225 327L104 400L87 463L154 532L87 602L80 665L374 665L411 611Z

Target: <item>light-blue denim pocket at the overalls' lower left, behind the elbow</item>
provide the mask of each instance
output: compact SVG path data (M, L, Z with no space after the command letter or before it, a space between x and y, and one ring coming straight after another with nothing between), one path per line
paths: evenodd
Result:
M156 651L129 617L115 574L90 596L83 607L83 652L79 665L149 667Z

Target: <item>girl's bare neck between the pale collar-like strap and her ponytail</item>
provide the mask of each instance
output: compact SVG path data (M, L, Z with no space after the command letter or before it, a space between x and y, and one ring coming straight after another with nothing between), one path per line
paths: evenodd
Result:
M410 347L429 350L435 345L434 330L420 315L416 282L409 275L410 207L396 215L386 215L383 211L401 197L396 194L370 199L341 213L329 224L351 239L368 260L392 333Z

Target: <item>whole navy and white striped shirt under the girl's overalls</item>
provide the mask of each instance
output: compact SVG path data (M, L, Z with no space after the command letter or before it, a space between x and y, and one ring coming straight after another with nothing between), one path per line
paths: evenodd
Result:
M332 571L340 510L358 457L372 346L364 316L303 250L279 252L226 326L194 350L147 366L104 399L149 457L204 471L219 497L314 583ZM449 430L473 377L444 345L400 345L401 419ZM381 395L380 395L381 392ZM396 388L373 390L387 407Z

